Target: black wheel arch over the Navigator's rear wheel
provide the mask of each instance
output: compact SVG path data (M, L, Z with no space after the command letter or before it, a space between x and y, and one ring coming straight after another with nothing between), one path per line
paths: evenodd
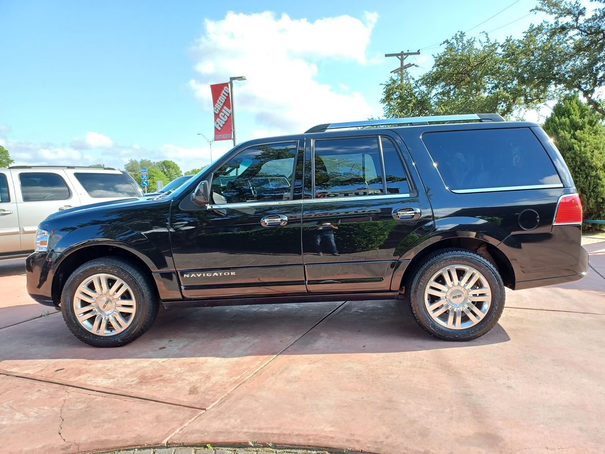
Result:
M391 289L405 292L405 282L424 262L425 257L440 249L456 248L475 252L488 260L498 270L504 285L515 288L515 272L511 261L497 245L500 240L488 237L477 232L448 232L447 234L433 235L408 249L400 258L399 266L393 275ZM404 265L404 266L402 266Z

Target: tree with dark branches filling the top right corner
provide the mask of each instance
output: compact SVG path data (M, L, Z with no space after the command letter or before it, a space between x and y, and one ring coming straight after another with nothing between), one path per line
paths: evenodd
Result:
M540 0L535 10L552 19L532 27L526 35L536 37L534 65L541 67L549 81L567 91L578 90L588 104L605 115L605 104L595 97L595 91L605 85L605 0L592 16L579 1ZM548 44L551 54L541 51Z

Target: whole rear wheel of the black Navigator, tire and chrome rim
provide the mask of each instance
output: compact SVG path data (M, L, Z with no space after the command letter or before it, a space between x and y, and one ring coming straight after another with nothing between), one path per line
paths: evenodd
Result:
M479 254L460 249L436 252L413 276L409 292L416 321L434 337L468 341L498 322L505 288L494 265Z

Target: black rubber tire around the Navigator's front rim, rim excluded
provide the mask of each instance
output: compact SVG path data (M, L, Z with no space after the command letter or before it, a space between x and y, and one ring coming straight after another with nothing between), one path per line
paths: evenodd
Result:
M102 336L88 331L77 320L74 296L80 284L96 274L111 274L122 279L131 289L136 312L129 325L119 334ZM130 291L129 289L129 291ZM67 327L82 342L94 347L121 347L145 333L155 320L159 308L157 291L137 266L119 257L102 257L84 263L74 271L61 296L61 311Z

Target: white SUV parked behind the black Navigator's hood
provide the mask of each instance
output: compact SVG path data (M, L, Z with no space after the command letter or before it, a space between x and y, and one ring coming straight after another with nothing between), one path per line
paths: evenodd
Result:
M0 258L32 252L38 224L53 212L142 195L128 173L111 168L0 168Z

